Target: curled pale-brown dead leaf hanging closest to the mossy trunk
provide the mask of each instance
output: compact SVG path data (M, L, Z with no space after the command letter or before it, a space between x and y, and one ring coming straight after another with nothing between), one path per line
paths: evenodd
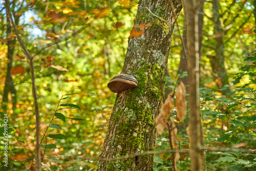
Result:
M160 113L156 118L156 128L157 132L161 135L164 129L167 128L169 112L174 109L174 93L168 94L167 99L165 100Z

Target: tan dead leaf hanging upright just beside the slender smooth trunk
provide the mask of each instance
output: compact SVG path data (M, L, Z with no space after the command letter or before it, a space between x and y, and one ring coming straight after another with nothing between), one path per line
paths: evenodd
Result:
M182 81L176 90L177 120L184 121L187 114L186 87Z

